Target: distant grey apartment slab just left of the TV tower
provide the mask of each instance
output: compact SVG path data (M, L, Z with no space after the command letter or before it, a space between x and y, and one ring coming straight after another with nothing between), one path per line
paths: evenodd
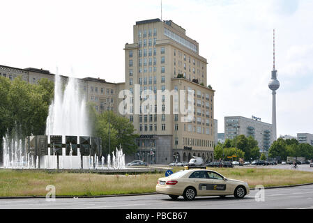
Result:
M270 145L273 144L273 125L245 118L242 116L224 117L225 139L244 134L245 137L254 137L258 141L260 152L268 153Z

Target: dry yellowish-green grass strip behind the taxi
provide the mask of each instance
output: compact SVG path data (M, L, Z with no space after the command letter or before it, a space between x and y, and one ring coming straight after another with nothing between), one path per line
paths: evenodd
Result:
M182 168L175 167L175 171ZM213 169L227 178L255 185L277 186L313 183L313 174L282 169ZM105 175L68 172L0 170L0 197L45 196L47 185L56 187L56 195L96 196L155 192L158 178L164 174Z

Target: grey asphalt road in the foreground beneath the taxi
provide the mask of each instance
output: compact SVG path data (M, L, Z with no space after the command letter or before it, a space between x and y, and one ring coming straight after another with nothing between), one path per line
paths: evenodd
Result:
M256 190L245 199L234 197L197 197L194 201L184 201L179 197L172 201L167 195L152 194L125 197L79 198L79 199L0 199L1 209L313 209L313 185L264 190L265 201L256 201Z

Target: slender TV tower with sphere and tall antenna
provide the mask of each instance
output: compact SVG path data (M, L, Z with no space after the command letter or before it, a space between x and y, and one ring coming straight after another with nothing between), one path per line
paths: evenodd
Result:
M273 30L273 71L272 79L268 83L268 87L272 90L273 101L272 101L272 125L274 128L273 138L277 140L277 128L276 128L276 91L280 88L280 82L277 80L277 70L275 70L275 29Z

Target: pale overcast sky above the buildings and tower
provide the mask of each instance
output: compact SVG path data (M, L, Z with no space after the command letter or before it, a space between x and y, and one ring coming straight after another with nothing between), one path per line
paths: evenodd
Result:
M313 133L312 0L163 0L199 43L215 89L215 118L252 115L271 122L276 31L277 136ZM0 64L124 82L125 43L136 21L160 18L160 0L0 1Z

